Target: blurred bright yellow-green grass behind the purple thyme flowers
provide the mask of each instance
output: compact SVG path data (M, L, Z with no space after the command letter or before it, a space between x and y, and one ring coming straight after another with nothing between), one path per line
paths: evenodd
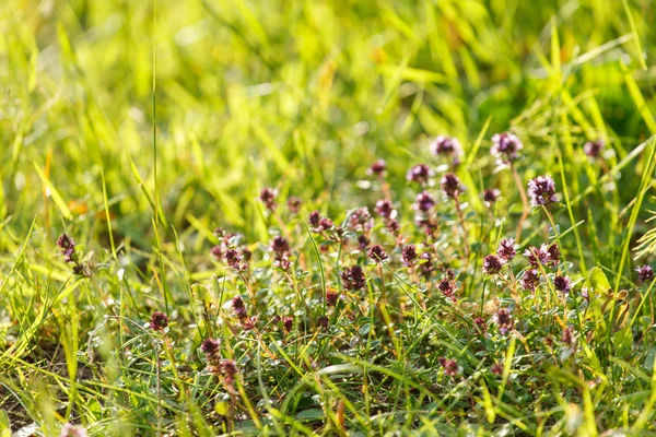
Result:
M471 174L512 128L527 176L549 170L566 135L567 170L583 177L586 140L622 158L656 131L652 4L7 0L0 226L13 238L0 244L15 248L34 217L60 229L62 215L102 237L103 170L117 238L149 246L153 123L163 215L178 229L261 235L263 186L332 211L366 203L342 181L377 157L402 191L431 137L469 151L487 120Z

